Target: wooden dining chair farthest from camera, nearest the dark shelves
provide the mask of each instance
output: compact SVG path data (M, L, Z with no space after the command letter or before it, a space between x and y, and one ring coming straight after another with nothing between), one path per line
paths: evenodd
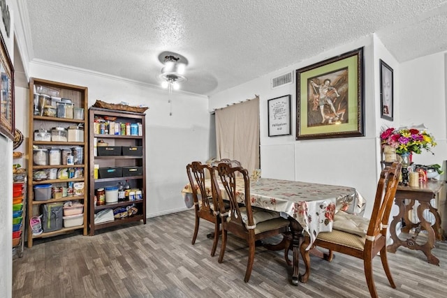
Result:
M211 165L202 164L200 161L193 161L189 165L186 165L186 173L188 174L189 185L192 189L193 204L196 213L196 222L191 244L194 245L196 243L200 218L214 223L214 241L211 249L211 255L214 256L217 244L219 243L219 235L221 234L221 217L219 216L219 207L214 185L211 183L211 188L205 186L206 177L210 177L211 171Z

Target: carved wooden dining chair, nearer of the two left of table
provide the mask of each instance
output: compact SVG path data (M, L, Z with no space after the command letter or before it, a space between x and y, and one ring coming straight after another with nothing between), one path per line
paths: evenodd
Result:
M237 174L243 178L244 195L237 191ZM221 209L222 242L219 263L223 262L228 232L245 239L249 244L249 258L244 278L247 283L254 264L255 242L286 232L289 221L281 218L278 212L263 211L251 207L250 180L247 169L233 166L230 163L219 163L214 166L211 177ZM219 188L219 183L223 190ZM224 204L223 198L228 200L229 204ZM240 206L240 203L243 203L244 206Z

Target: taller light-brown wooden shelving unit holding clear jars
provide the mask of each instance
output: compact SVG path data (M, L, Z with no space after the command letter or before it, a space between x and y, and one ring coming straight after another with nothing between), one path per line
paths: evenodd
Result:
M38 93L36 90L38 87L47 88L50 90L59 91L59 95L57 97L67 98L72 100L73 106L84 109L84 117L83 119L68 119L62 117L46 117L41 115L34 115L34 94ZM88 89L87 87L75 86L72 84L65 84L62 82L53 82L50 80L43 80L31 77L29 82L29 115L31 117L31 121L29 121L29 161L28 161L28 196L27 196L27 236L28 236L28 247L31 248L33 246L33 239L43 238L43 237L52 237L59 234L64 234L66 232L71 232L73 230L82 229L82 233L87 235L87 209L88 209L88 121L87 119L87 110L88 110ZM52 127L61 126L64 128L68 128L68 126L78 126L82 124L84 127L84 135L82 142L48 142L48 141L34 141L34 131L37 131L41 128L45 128L47 130L51 130ZM34 164L34 146L41 149L48 148L57 148L57 149L70 149L71 147L81 147L83 150L83 163L76 165L35 165ZM62 162L61 162L62 163ZM50 169L62 169L62 168L82 168L83 176L74 178L74 179L45 179L41 181L35 181L33 179L34 172L38 170L50 170ZM84 182L84 195L78 196L66 196L62 198L48 198L45 201L37 201L34 200L34 186L38 184L52 184L52 186L65 187L68 182ZM31 226L29 225L29 219L33 216L39 216L41 214L41 205L53 202L66 202L76 200L84 204L84 215L82 220L82 225L77 225L71 228L61 228L61 230L55 230L52 232L43 232L39 235L34 235Z

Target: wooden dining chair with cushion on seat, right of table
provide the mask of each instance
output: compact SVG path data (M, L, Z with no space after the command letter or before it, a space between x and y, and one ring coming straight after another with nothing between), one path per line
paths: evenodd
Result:
M371 219L339 211L339 213L342 213L335 214L332 232L318 233L312 245L312 248L315 246L327 248L329 253L325 254L324 258L328 261L332 260L334 251L362 259L365 278L371 297L378 297L376 286L374 285L374 276L372 274L372 259L379 252L388 281L392 288L396 288L386 258L386 233L388 230L388 218L390 217L391 205L393 204L396 188L399 183L400 169L400 163L395 162L381 171ZM302 282L307 282L310 274L310 250L306 250L309 243L310 238L307 235L300 246L306 268L306 272L301 278Z

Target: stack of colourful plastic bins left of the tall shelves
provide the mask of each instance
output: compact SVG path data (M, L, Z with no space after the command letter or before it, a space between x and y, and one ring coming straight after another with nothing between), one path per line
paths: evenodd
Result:
M17 255L23 255L24 236L24 182L13 183L13 248L17 250Z

